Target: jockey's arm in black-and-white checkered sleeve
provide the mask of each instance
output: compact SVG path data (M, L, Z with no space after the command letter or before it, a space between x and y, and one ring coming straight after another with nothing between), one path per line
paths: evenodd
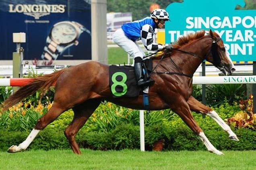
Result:
M141 29L141 41L147 50L156 51L164 48L164 45L153 42L153 28L149 24L143 25Z

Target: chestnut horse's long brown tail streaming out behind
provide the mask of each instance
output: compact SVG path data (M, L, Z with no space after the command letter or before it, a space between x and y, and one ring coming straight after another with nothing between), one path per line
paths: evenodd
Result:
M60 71L56 71L49 75L43 75L40 77L36 77L33 81L28 83L25 86L22 86L18 91L13 93L8 99L6 99L3 103L2 111L6 111L9 107L12 107L22 99L32 95L37 90L46 91L51 86L55 85L57 79L66 69L62 69Z

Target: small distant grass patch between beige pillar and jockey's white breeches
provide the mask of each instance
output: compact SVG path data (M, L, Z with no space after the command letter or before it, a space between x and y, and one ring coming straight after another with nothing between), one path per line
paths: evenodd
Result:
M121 49L120 47L111 47L108 48L108 64L120 64L123 65L124 63L128 64L128 59L127 59L127 53ZM132 61L130 61L132 63Z

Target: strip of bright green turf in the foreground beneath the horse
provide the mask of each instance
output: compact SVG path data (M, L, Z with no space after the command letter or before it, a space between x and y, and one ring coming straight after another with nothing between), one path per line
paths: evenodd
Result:
M255 170L256 151L140 152L139 150L93 151L30 150L0 152L0 170Z

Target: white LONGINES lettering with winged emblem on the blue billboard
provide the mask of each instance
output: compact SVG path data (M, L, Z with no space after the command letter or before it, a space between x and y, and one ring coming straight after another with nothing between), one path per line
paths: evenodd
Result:
M58 4L9 4L9 12L23 13L39 19L41 16L49 15L50 13L64 13L66 5Z

